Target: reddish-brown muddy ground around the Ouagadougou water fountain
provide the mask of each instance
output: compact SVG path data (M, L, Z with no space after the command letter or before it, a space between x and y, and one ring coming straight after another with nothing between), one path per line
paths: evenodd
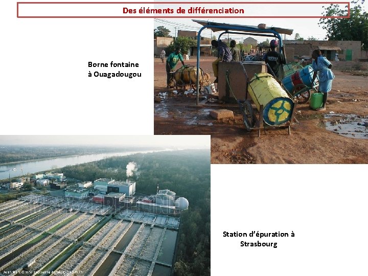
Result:
M200 60L212 81L213 60ZM196 65L195 58L186 64ZM210 134L212 164L366 164L368 63L333 62L332 69L336 78L326 111L299 104L291 135L286 129L266 129L258 137L258 131L246 131L237 104L206 102L203 94L198 107L194 94L167 89L165 63L155 58L154 94L162 100L154 102L154 134ZM209 116L210 110L222 108L233 110L235 118L217 121Z

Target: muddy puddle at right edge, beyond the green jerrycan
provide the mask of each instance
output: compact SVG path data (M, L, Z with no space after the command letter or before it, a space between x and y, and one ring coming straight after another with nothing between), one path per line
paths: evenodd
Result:
M356 114L325 114L325 121L321 124L327 130L342 136L368 139L368 117Z

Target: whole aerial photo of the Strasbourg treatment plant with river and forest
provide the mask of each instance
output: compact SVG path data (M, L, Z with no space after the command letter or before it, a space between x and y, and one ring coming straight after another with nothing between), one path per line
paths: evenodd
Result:
M210 274L209 143L118 137L109 146L0 137L0 275Z

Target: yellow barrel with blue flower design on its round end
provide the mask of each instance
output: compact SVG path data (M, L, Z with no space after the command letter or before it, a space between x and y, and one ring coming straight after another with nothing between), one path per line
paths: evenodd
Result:
M263 105L262 117L266 124L276 126L291 120L294 102L270 74L255 74L248 83L248 93L258 111Z

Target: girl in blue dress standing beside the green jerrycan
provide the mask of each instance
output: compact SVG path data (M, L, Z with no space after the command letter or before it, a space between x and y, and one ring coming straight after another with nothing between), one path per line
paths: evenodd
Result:
M324 56L322 56L321 51L318 49L314 50L312 53L312 68L313 68L313 78L312 82L314 82L317 77L317 71L319 71L319 86L318 93L323 93L323 104L320 108L317 108L318 111L326 110L326 102L328 93L331 91L332 80L335 78L335 75L332 73L331 68L332 64L327 60Z

